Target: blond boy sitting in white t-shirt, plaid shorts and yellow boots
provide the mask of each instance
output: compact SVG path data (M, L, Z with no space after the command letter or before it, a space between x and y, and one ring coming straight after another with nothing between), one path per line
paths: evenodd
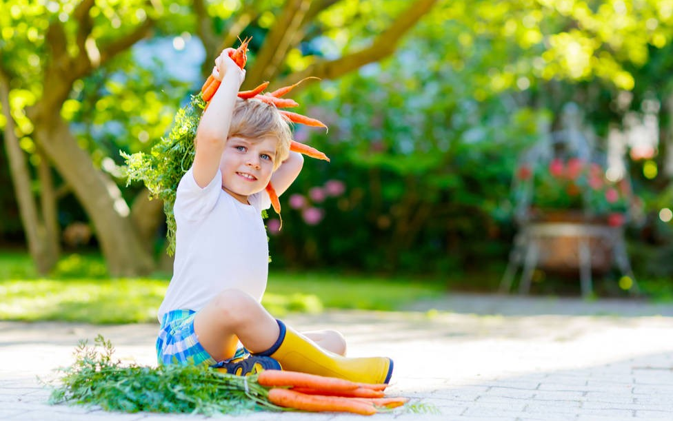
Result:
M222 83L201 117L194 164L177 189L174 274L159 308L159 362L388 382L389 358L345 358L339 333L302 335L260 305L268 275L264 189L272 181L277 194L285 192L303 157L290 152L290 127L275 107L237 98L245 71L226 50L215 65L213 76Z

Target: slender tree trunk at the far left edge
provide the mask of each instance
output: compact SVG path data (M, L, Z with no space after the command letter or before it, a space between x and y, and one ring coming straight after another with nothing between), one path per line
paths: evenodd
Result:
M6 119L5 150L10 163L10 174L14 184L14 193L17 196L19 214L23 231L26 233L28 251L40 274L48 274L56 265L58 255L57 238L48 235L48 229L43 222L31 190L31 177L26 162L26 155L19 146L19 139L14 132L15 125L9 101L9 83L0 73L0 103Z

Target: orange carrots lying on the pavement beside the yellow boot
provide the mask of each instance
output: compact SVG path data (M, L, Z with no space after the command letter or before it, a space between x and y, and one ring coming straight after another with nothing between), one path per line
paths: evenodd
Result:
M373 415L408 402L408 398L386 398L385 383L350 382L297 371L264 370L257 374L257 383L268 388L272 404L302 411Z

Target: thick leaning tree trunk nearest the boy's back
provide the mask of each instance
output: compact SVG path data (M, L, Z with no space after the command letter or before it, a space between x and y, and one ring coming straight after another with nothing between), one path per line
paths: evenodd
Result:
M152 256L143 247L117 184L94 167L61 116L53 116L47 110L36 111L51 119L35 124L35 137L91 218L110 274L149 273L154 266Z

